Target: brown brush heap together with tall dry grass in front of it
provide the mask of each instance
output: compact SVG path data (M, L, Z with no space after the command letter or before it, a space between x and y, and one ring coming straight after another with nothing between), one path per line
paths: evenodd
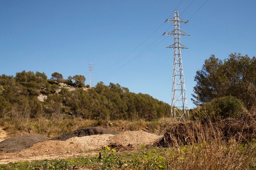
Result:
M172 124L156 145L172 148L171 169L249 170L256 169L255 138L256 116L248 115L209 124Z

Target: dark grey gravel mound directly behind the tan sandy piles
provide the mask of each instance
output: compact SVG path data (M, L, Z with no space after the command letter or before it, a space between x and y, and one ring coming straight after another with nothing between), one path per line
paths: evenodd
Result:
M101 127L87 127L87 128L74 130L72 132L65 133L58 137L54 137L54 138L52 138L52 140L65 141L72 137L83 137L83 136L103 135L103 134L116 135L117 132L113 131L113 130L106 129L106 128L101 128Z

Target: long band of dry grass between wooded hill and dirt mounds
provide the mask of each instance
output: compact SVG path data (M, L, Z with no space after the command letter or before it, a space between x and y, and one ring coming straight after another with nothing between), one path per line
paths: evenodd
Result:
M31 118L33 114L33 108L28 104L23 105L22 108L13 107L8 112L2 112L0 126L7 131L9 136L41 134L46 137L55 137L88 126L101 126L119 132L125 130L144 130L162 135L167 126L177 122L170 118L161 118L155 121L144 121L142 119L138 121L104 121L83 119L61 113L53 115L37 113L34 118Z

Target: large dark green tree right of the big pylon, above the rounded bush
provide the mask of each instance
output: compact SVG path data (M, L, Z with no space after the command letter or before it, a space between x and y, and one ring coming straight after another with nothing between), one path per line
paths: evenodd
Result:
M205 104L215 98L233 96L247 109L256 107L256 58L231 53L224 62L214 55L196 72L194 104Z

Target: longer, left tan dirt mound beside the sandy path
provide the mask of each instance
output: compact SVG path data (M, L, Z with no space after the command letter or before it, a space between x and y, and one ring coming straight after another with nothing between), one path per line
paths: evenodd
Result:
M102 148L114 135L72 137L66 141L43 141L20 152L23 156L77 153Z

